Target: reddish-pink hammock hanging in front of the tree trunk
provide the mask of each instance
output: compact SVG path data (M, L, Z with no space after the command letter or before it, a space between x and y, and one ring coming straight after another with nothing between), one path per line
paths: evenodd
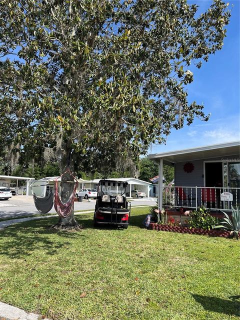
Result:
M76 178L71 174L69 169L67 169L64 173L66 173L67 171L70 173L70 175L74 178L74 180L76 182L75 182L73 191L72 191L71 195L69 196L68 200L66 201L66 203L62 203L60 196L59 196L58 187L57 187L57 179L58 178L54 180L54 182L55 182L54 208L55 208L56 212L58 213L58 215L62 218L66 218L68 215L70 215L70 213L72 211L72 207L74 204L74 197L75 197L76 188L77 188L77 184L78 184ZM61 177L64 173L62 173L59 177Z

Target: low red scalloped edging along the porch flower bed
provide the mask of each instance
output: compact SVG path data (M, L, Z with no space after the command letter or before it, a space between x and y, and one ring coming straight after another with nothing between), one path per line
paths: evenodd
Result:
M170 232L178 232L178 233L190 233L190 234L200 234L200 235L208 235L208 236L220 236L220 237L231 237L230 231L225 230L206 230L199 228L188 228L186 226L175 226L168 224L159 224L151 222L148 227L150 230L157 231L170 231ZM239 232L240 236L240 232Z

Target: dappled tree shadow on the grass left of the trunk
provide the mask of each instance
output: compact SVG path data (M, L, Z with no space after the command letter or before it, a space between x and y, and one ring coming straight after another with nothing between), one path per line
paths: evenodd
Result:
M41 249L45 254L54 255L60 248L70 246L69 240L84 238L79 231L70 232L51 229L54 218L31 220L8 226L0 231L0 255L21 258ZM57 236L54 237L54 234Z

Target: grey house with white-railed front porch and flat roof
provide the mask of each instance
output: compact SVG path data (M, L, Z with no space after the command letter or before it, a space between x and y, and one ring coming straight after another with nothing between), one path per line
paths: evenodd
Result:
M230 210L240 202L239 141L149 154L158 164L158 207ZM162 185L163 163L174 166L174 186Z

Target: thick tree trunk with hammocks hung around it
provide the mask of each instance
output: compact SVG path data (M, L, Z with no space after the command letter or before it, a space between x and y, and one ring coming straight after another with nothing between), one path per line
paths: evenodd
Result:
M71 148L67 145L67 143L64 143L62 145L62 149L65 151L64 154L61 157L61 162L60 162L60 171L61 174L66 171L68 168L72 175L74 174L73 170L73 163L72 159L70 156ZM68 165L67 165L68 164ZM69 172L66 172L62 177L61 177L61 182L60 182L60 196L61 196L61 201L63 203L67 202L69 196L71 195L74 185L75 185L75 180L73 179L72 176ZM63 182L63 181L71 181L71 182ZM63 229L82 229L82 226L77 223L77 221L74 218L74 203L72 206L71 213L66 217L62 218L59 217L59 220L56 224L53 225L53 227L57 228L63 228Z

